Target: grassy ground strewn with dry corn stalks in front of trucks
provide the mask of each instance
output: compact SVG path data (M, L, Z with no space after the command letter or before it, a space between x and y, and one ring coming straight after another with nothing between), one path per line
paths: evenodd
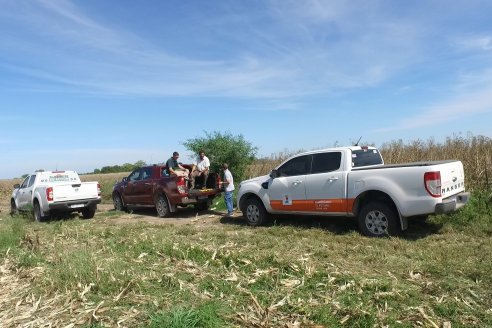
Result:
M475 195L383 239L347 219L253 229L0 213L0 326L492 326L491 205Z

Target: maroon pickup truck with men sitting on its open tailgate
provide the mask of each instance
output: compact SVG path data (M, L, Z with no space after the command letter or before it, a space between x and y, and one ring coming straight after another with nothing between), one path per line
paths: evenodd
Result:
M190 165L182 164L191 169ZM153 165L135 169L128 177L113 187L114 208L124 211L128 206L155 207L159 217L176 212L178 206L195 205L198 210L207 210L212 200L220 195L220 177L210 173L203 184L197 178L195 186L189 189L188 181L182 177L169 176L166 166Z

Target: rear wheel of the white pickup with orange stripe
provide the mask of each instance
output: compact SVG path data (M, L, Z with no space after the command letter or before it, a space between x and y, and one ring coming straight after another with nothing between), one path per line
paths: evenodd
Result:
M359 229L368 237L396 236L401 233L397 213L382 202L366 204L359 212Z

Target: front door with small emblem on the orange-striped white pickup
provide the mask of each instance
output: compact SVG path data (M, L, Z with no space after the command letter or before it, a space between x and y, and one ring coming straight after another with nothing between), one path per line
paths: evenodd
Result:
M310 155L295 157L277 169L278 177L268 186L270 206L277 212L305 210L305 178L310 167Z

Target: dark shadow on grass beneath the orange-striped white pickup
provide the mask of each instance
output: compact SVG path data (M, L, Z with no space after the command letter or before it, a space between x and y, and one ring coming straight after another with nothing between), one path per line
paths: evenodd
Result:
M246 220L239 213L234 217L223 216L222 224L247 226ZM291 226L300 229L323 229L336 235L345 235L359 232L356 218L338 216L304 216L304 215L276 215L263 226ZM409 219L408 229L399 236L406 240L418 240L436 234L441 229L441 224L428 222L424 219Z

